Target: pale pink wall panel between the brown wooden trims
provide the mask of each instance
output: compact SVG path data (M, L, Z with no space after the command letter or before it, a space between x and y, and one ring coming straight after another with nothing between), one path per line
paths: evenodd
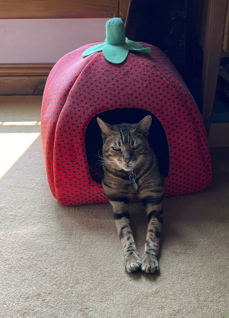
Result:
M108 19L0 20L0 63L56 63L83 45L104 42Z

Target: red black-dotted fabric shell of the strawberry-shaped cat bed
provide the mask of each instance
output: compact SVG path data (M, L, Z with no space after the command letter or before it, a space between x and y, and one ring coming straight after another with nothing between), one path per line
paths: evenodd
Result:
M211 183L206 130L193 96L159 48L140 44L151 53L130 51L121 64L108 62L102 52L83 58L94 44L85 45L66 54L49 74L41 136L49 187L61 204L108 202L91 177L90 170L97 172L88 166L85 133L93 117L115 108L145 109L163 126L170 157L165 196L201 191Z

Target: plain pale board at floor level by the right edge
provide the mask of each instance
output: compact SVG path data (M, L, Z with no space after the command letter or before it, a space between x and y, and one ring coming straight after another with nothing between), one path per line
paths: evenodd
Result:
M208 142L210 148L229 147L229 123L211 123Z

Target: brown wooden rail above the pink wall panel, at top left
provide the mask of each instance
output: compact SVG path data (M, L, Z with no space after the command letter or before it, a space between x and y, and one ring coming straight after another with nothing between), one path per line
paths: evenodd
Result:
M119 0L0 0L0 18L107 18L118 6Z

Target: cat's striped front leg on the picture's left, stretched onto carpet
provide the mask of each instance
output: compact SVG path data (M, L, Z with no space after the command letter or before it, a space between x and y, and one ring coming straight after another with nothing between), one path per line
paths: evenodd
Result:
M141 267L141 259L134 242L128 204L120 201L110 201L110 203L114 209L115 225L121 240L124 267L130 273Z

